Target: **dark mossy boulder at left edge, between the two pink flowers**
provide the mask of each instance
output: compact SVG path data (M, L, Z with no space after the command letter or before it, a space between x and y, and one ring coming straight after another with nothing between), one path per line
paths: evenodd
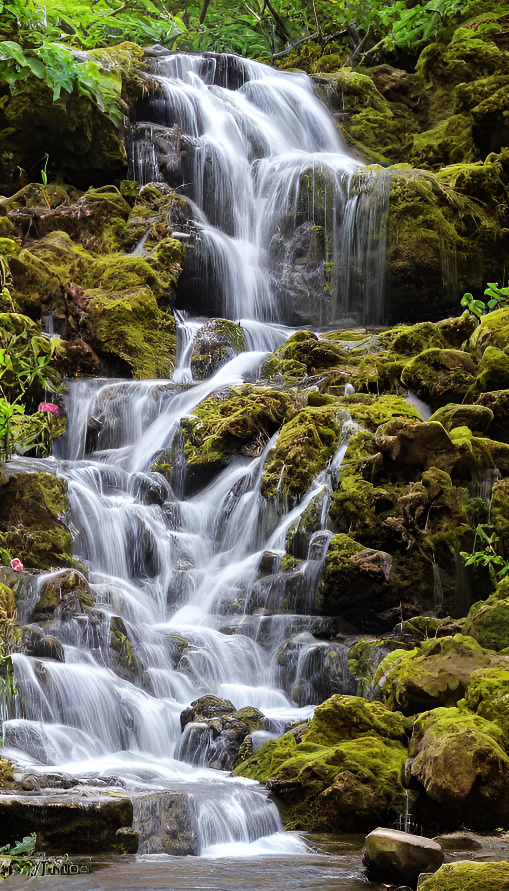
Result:
M27 568L73 566L67 483L49 473L0 476L0 547Z

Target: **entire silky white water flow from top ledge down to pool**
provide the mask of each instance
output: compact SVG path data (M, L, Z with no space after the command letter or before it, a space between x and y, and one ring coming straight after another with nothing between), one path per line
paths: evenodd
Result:
M4 742L34 770L120 778L127 790L184 785L199 854L299 854L304 842L283 832L265 790L206 766L209 735L200 724L182 734L179 716L206 693L237 709L257 707L269 728L253 734L259 748L324 699L321 658L331 644L326 634L316 637L327 620L312 611L332 535L330 494L351 427L345 421L332 462L289 507L259 491L277 434L258 457L237 456L190 490L179 421L216 390L257 380L267 352L291 333L283 295L290 266L281 257L285 239L303 225L297 206L309 171L308 193L318 179L332 190L325 222L334 304L327 312L348 314L355 265L371 282L362 314L380 320L382 273L372 274L382 263L383 238L376 250L370 239L383 217L386 179L379 177L379 188L369 174L360 187L364 175L308 78L233 59L154 50L161 89L145 110L156 123L135 128L133 173L142 183L164 178L161 144L177 126L187 146L182 192L193 207L206 272L201 286L217 290L222 315L242 320L249 351L193 383L193 339L205 320L177 313L174 380L72 380L68 432L55 457L15 459L20 469L68 481L74 553L89 569L95 610L94 622L86 615L54 618L49 633L62 643L63 662L12 656L17 694ZM290 219L286 232L282 217ZM171 482L152 472L164 453L171 455ZM313 499L322 503L322 529L311 536L308 559L285 573L286 535ZM267 554L273 570L260 573ZM53 575L40 576L39 587ZM119 618L131 674L111 663L104 643ZM278 658L290 637L289 652ZM335 690L350 692L347 650L332 646L342 671Z

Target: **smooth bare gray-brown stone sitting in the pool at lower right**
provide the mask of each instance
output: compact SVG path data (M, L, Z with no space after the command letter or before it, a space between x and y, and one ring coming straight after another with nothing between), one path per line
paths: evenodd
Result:
M380 827L365 839L363 863L370 879L415 887L422 872L436 872L443 862L444 852L431 838Z

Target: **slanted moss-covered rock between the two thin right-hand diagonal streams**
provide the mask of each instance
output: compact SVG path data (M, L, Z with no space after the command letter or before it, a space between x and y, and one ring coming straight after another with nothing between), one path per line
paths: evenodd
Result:
M303 495L331 460L347 420L341 408L323 405L308 406L287 421L267 456L262 495Z

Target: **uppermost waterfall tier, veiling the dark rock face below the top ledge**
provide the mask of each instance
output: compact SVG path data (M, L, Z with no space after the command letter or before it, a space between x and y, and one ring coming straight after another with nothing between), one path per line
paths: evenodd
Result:
M381 324L390 173L362 168L305 74L148 51L159 91L133 110L131 176L188 200L177 304L299 326Z

